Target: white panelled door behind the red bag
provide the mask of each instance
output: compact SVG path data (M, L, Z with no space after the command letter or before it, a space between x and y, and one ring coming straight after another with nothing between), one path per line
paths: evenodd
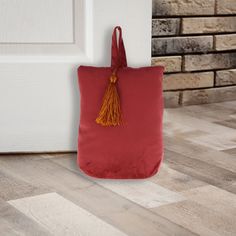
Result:
M151 0L0 0L0 152L76 150L76 69L110 64L115 25L150 65Z

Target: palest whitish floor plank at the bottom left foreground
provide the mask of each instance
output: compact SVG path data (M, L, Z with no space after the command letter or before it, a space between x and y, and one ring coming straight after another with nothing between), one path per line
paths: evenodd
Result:
M52 235L126 235L57 193L8 202L24 215L46 228Z

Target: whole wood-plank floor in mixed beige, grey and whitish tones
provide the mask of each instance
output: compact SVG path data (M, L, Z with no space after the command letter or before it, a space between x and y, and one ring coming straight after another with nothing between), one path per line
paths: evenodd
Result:
M0 156L0 235L236 235L236 101L165 110L147 180L97 180L76 154Z

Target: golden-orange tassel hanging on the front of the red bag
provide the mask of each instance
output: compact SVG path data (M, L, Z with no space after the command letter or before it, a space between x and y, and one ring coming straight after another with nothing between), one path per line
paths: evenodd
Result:
M102 126L116 126L121 124L120 98L117 91L117 77L113 73L106 88L102 106L96 122Z

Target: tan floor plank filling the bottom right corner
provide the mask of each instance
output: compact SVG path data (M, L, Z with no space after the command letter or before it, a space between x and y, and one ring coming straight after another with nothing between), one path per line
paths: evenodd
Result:
M155 211L201 236L233 236L236 232L233 218L190 200L161 206Z

